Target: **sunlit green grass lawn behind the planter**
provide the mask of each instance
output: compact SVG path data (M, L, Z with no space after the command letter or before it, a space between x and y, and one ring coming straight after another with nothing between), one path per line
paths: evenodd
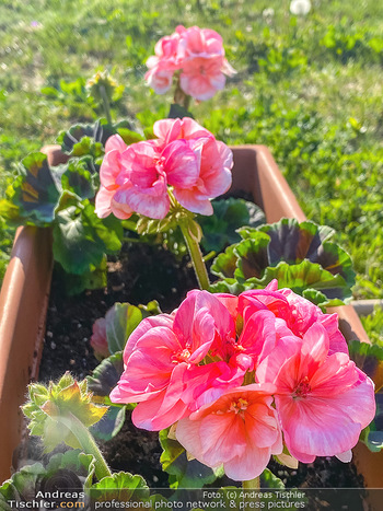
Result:
M144 61L177 24L208 26L222 34L237 74L194 115L228 143L269 146L307 217L338 230L358 271L355 295L383 297L383 3L314 0L299 19L289 3L1 2L0 197L27 152L96 117L83 91L96 69L125 85L117 117L150 126L164 116L171 95L144 85ZM42 93L47 86L60 94Z

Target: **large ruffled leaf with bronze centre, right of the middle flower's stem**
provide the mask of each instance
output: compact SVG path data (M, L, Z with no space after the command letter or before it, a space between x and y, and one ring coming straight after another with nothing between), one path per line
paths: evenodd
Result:
M211 266L212 274L227 280L225 284L214 283L214 292L234 288L233 278L245 289L264 287L276 278L279 288L304 293L322 307L340 305L341 300L351 298L350 287L355 282L351 259L327 241L334 233L330 228L282 219L237 232L243 240L229 246Z

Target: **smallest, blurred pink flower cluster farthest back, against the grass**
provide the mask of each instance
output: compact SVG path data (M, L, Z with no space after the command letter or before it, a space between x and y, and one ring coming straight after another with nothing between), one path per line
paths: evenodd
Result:
M170 90L174 72L181 70L179 86L185 94L205 101L224 88L225 74L235 73L224 58L222 37L209 28L179 25L174 34L155 45L148 59L146 80L158 94Z

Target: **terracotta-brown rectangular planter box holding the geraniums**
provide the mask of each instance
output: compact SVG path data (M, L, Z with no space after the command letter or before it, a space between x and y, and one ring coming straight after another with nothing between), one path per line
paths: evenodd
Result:
M268 222L282 217L305 220L294 195L281 175L269 150L264 146L232 148L234 153L232 190L252 193L254 201L263 208ZM45 149L49 163L59 163L63 155L59 147ZM37 378L43 346L44 325L50 286L53 256L49 230L21 228L14 242L11 263L5 274L0 297L0 480L10 476L12 453L20 441L22 416L20 405L24 402L28 381ZM367 334L352 306L336 307L340 328L347 340L358 338L369 342ZM356 449L358 467L380 460L383 453ZM367 460L367 461L365 461ZM363 469L364 473L364 469ZM383 487L383 475L368 474L368 487ZM376 478L376 477L380 477Z

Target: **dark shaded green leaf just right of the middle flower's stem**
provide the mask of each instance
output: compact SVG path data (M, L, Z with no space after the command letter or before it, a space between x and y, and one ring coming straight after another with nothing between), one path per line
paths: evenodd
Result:
M201 245L206 252L220 252L225 245L239 242L236 230L243 225L256 228L265 223L265 214L254 202L243 199L213 200L214 213L199 216L198 222L204 231Z

